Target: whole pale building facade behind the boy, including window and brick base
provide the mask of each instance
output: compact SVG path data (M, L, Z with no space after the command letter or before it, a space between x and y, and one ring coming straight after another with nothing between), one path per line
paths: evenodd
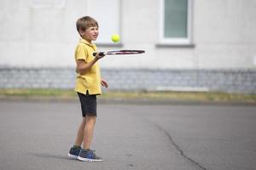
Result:
M147 81L149 84L156 79L167 79L150 89L254 93L255 7L256 0L3 0L0 2L0 70L2 75L9 68L73 71L73 53L79 41L75 22L81 16L91 15L99 21L100 37L96 41L99 50L146 51L129 57L101 59L103 74L105 71L108 77L110 72L125 70L132 73L126 80L133 80L145 71L159 72L160 80L145 76L150 78L139 82L135 78L131 81L132 89L143 88ZM113 33L120 35L120 42L111 42ZM180 77L179 81L172 78L172 73L177 73L175 77ZM185 77L190 74L195 76L187 80ZM212 80L209 75L215 78ZM1 82L1 87L14 87L6 77L2 76L5 82ZM122 82L113 80L113 83ZM217 87L211 88L212 83ZM234 88L237 83L240 90Z

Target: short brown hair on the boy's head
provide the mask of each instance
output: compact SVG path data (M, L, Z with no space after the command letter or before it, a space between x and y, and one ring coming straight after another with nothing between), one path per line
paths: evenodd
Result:
M76 25L77 25L77 31L79 30L85 31L90 26L99 27L97 21L90 16L84 16L82 18L79 18L79 20L77 20Z

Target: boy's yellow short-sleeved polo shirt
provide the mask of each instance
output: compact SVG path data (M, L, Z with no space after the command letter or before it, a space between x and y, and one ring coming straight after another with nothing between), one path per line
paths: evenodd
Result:
M94 43L81 39L75 49L75 59L84 59L88 63L94 58L92 54L95 51L96 45ZM86 94L87 90L89 94L102 94L101 81L100 67L96 62L83 75L77 74L75 91L80 94Z

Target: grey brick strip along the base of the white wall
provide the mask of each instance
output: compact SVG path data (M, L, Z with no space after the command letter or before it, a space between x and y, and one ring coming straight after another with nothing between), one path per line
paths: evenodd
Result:
M74 68L0 67L0 88L73 88ZM102 69L113 90L256 93L256 70Z

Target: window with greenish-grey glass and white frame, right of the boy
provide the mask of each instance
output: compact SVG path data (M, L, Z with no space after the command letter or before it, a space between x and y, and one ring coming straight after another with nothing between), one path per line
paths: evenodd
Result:
M192 0L161 0L161 44L191 44L191 3Z

